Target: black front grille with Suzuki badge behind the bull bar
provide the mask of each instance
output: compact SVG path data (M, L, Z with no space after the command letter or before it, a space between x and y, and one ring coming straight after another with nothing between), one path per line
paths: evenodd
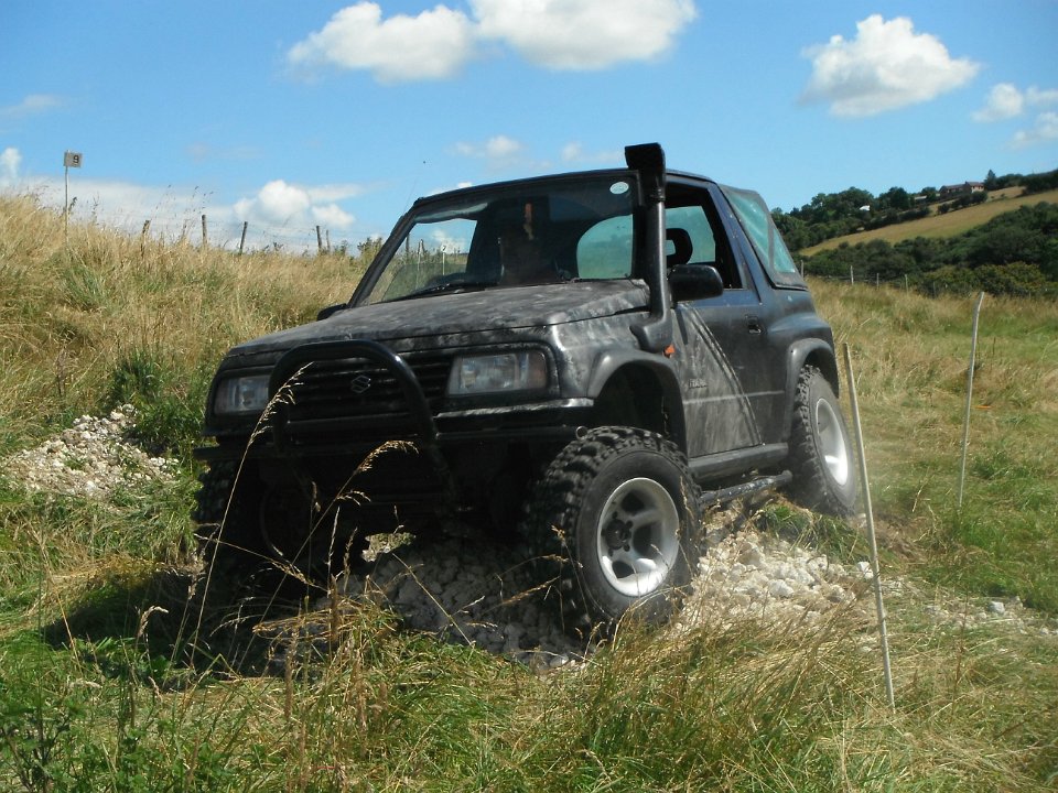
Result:
M419 381L431 412L444 398L452 356L444 352L403 357ZM414 420L397 378L364 358L325 358L310 362L291 383L285 406L289 431L352 433L358 439L400 439L414 433ZM299 425L300 428L299 428Z

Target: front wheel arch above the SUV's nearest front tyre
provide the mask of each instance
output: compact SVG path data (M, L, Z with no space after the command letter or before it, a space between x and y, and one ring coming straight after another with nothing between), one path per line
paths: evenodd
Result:
M596 426L649 430L687 453L680 383L667 359L639 352L603 354L595 361L587 395L595 402Z

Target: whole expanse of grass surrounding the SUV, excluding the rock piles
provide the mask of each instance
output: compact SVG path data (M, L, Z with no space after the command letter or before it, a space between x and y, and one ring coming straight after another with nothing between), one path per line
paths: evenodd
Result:
M1043 199L1037 196L1035 199ZM987 205L985 205L987 206ZM959 213L961 215L961 213ZM0 197L0 458L125 402L172 481L109 500L0 472L0 790L1048 791L1058 784L1058 306L813 283L853 351L896 708L871 626L622 626L538 675L347 602L314 636L206 587L190 449L228 346L345 298L363 262L237 257ZM843 562L859 523L754 519ZM937 621L1002 599L1024 622ZM309 619L288 615L289 624ZM274 626L273 626L274 627ZM274 632L274 631L273 631ZM299 644L301 641L301 644ZM285 653L280 672L269 652Z

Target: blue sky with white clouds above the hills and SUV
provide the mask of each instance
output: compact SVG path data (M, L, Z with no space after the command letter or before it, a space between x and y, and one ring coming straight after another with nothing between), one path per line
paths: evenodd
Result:
M790 209L1058 167L1058 0L3 0L0 189L175 238L385 235L417 196L672 167Z

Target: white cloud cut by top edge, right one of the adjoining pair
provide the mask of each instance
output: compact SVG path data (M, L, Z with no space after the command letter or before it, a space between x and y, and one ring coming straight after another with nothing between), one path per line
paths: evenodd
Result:
M552 69L602 69L670 50L691 0L471 0L483 37Z

